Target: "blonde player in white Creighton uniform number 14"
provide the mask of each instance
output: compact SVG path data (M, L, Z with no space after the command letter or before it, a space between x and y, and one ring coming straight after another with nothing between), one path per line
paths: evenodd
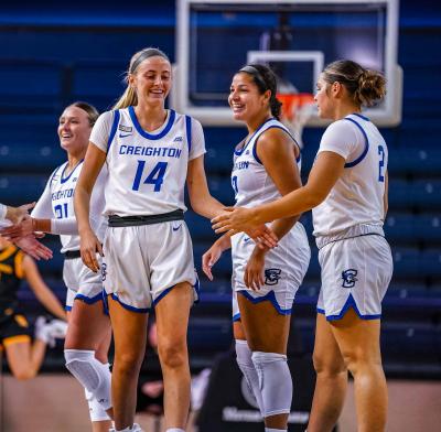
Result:
M127 82L114 110L101 115L94 127L76 188L82 257L98 271L96 251L105 252L101 271L115 335L116 430L140 430L133 424L137 380L148 313L154 306L166 431L180 432L189 413L186 332L198 287L183 220L185 182L196 213L214 217L223 206L207 188L201 123L164 107L172 85L166 55L157 48L136 53ZM109 228L101 249L89 224L88 202L105 163Z

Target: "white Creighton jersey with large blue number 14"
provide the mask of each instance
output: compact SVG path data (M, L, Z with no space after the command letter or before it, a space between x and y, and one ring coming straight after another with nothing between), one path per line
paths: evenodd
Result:
M197 137L192 137L194 127L201 131ZM100 116L90 141L107 152L106 215L158 215L186 209L187 164L205 152L202 127L196 120L169 110L164 125L147 132L133 107L129 107Z

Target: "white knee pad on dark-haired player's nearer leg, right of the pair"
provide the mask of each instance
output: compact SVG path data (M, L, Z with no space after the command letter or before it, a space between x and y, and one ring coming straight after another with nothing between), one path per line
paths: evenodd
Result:
M289 413L292 401L292 379L287 356L254 352L251 358L259 376L263 417Z

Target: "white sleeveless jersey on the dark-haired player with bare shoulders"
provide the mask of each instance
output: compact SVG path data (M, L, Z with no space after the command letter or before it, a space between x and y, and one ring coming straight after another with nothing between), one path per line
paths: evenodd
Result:
M251 207L269 203L281 196L279 190L268 175L267 170L257 155L257 142L259 137L271 128L279 128L291 133L284 125L275 118L265 121L251 136L247 143L234 152L234 165L232 172L232 185L235 191L236 206ZM295 140L293 145L295 145ZM293 161L295 163L295 161ZM299 171L300 158L297 160Z

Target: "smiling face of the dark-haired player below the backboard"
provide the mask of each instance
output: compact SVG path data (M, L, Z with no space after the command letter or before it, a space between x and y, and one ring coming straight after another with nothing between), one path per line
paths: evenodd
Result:
M250 120L269 114L270 90L260 94L250 74L239 72L233 77L229 88L228 104L235 120Z

